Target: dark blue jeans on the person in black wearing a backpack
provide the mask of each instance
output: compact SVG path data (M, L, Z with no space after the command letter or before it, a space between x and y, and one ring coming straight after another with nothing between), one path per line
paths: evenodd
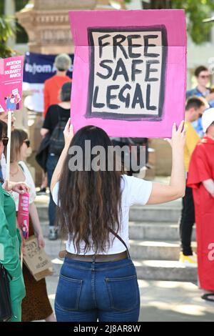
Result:
M58 156L49 154L46 169L48 174L48 185L51 186L51 179L54 174L54 169L56 168L56 164L58 162ZM54 227L56 219L56 204L53 201L52 194L50 191L50 199L49 199L49 226Z

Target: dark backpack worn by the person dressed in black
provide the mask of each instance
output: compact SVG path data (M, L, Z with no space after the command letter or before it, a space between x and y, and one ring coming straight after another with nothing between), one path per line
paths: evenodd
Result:
M58 112L58 123L56 124L56 127L54 128L54 131L50 137L49 153L53 153L58 156L61 155L61 152L65 146L63 130L66 127L68 118L61 118L60 113Z

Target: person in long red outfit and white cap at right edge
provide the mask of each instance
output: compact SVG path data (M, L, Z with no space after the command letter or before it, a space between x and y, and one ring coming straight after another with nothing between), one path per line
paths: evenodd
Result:
M202 117L205 136L195 147L188 172L193 188L200 288L203 299L214 302L214 108Z

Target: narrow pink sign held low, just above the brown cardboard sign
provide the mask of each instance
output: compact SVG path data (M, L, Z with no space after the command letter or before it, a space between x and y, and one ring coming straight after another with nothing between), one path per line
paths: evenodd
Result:
M29 237L29 194L27 192L19 194L17 221L23 237L27 239Z

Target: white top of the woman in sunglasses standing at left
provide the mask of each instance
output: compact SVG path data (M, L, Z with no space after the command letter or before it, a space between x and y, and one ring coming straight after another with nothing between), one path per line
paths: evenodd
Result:
M36 198L36 188L35 188L34 180L33 180L33 177L31 176L31 173L30 173L28 167L26 166L26 164L23 161L19 161L19 166L23 170L23 174L25 176L25 180L20 181L20 182L25 182L29 186L29 188L30 188L29 204L31 204L31 203L34 202L34 200ZM18 211L19 210L19 194L18 194L18 192L12 192L11 195L14 198L14 201L16 203L16 211Z

